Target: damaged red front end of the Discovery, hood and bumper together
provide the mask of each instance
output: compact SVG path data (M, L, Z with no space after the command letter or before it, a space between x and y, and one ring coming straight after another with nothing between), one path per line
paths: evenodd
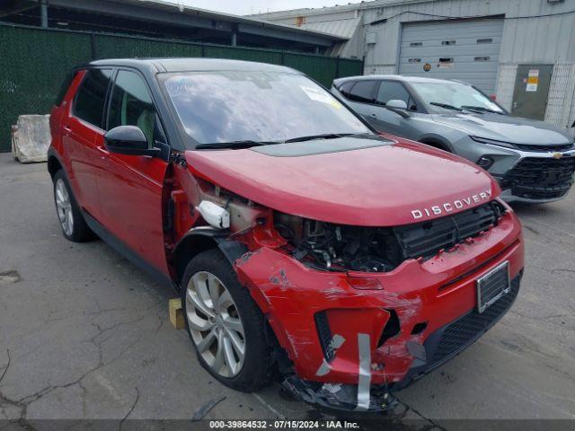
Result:
M389 388L400 389L456 355L507 311L489 319L475 311L478 278L509 262L509 280L518 288L524 259L521 227L497 199L497 184L455 156L395 142L355 152L353 163L345 152L186 154L195 178L269 211L252 229L230 236L248 250L234 268L293 365L288 389L309 402L382 408ZM485 208L495 208L495 216L482 213ZM482 227L467 231L475 223L468 217L483 220ZM418 242L431 241L425 235L433 226L441 231L452 219L455 226L447 229L457 235L463 230L464 238L432 251L418 249ZM322 221L325 232L331 229L332 242L322 251L302 246L305 232L317 229L316 224L310 227L314 220ZM301 242L288 233L296 233ZM339 243L365 235L371 243L380 233L386 235L381 244L399 242L402 256L393 262L370 257L355 266L340 259L347 246L338 249ZM509 306L515 295L508 295ZM457 322L472 318L481 325L450 345ZM384 398L376 397L377 388L385 388Z

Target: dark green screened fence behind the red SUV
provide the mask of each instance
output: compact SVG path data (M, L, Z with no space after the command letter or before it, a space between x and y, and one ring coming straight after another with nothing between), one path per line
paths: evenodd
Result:
M260 61L294 67L327 86L336 77L363 73L362 62L351 58L0 24L0 152L10 151L10 127L19 115L49 113L72 67L113 57Z

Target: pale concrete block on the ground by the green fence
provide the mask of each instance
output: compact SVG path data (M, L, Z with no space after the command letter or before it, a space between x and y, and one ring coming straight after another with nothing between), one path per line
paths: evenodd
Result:
M13 127L13 156L21 163L46 162L51 135L49 115L21 115Z

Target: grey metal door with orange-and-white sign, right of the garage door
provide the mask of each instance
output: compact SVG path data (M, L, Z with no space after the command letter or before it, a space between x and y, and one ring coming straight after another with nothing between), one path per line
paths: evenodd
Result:
M519 65L511 113L526 119L544 120L553 65Z

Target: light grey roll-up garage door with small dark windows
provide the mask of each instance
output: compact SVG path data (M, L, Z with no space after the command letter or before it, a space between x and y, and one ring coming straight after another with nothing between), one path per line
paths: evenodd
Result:
M399 73L459 79L494 94L502 32L502 19L404 23Z

